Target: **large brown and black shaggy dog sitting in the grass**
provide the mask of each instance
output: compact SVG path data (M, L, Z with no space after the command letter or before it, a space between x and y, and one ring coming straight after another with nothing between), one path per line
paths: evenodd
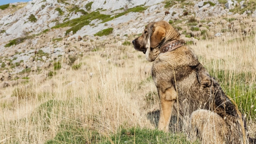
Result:
M132 41L134 49L153 62L152 78L160 99L158 129L167 132L176 113L183 123L189 121L189 132L202 143L246 141L244 116L179 36L168 22L158 21L148 24ZM255 140L247 138L251 143Z

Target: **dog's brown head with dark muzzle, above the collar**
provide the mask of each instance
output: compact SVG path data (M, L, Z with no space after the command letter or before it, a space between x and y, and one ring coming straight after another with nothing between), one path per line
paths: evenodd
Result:
M134 49L146 54L148 61L155 61L159 48L167 42L179 39L179 32L166 21L149 23L143 34L132 41Z

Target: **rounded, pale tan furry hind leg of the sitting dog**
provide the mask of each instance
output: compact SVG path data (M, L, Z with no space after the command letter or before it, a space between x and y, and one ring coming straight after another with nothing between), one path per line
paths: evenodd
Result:
M190 127L192 134L197 133L202 144L225 143L228 128L225 127L223 118L212 111L205 109L194 111L190 117Z

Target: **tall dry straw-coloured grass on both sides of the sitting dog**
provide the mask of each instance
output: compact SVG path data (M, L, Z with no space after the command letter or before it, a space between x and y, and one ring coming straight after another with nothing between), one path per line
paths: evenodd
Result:
M237 37L236 40L227 38L230 40L226 42L221 42L221 39L204 40L191 47L199 61L219 79L226 93L247 115L248 133L255 137L256 37ZM135 59L127 59L126 51L133 52ZM48 78L48 81L56 83L49 92L44 89L47 82L23 85L24 97L30 97L19 99L16 106L0 110L0 142L39 144L64 135L66 130L77 132L65 140L77 139L72 143L101 143L106 138L118 143L118 134L122 133L120 128L154 129L155 123L148 113L159 109L157 90L152 78L140 71L152 63L132 46L125 46L121 54L125 58L124 67L107 63L107 58L100 57L98 52L94 54L82 58L82 65L88 66L87 71L70 70ZM20 87L7 88L2 93L11 95ZM129 131L125 134L131 135ZM78 139L78 135L82 138ZM179 135L183 134L167 137L185 143ZM158 136L157 139L161 141L162 138Z

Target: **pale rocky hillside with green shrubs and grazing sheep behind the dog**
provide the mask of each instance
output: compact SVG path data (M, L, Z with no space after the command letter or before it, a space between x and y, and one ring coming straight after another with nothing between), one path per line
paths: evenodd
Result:
M0 70L19 75L26 69L48 68L63 57L129 45L153 21L169 21L194 44L214 36L225 39L225 32L253 32L255 4L254 0L32 0L2 5Z

